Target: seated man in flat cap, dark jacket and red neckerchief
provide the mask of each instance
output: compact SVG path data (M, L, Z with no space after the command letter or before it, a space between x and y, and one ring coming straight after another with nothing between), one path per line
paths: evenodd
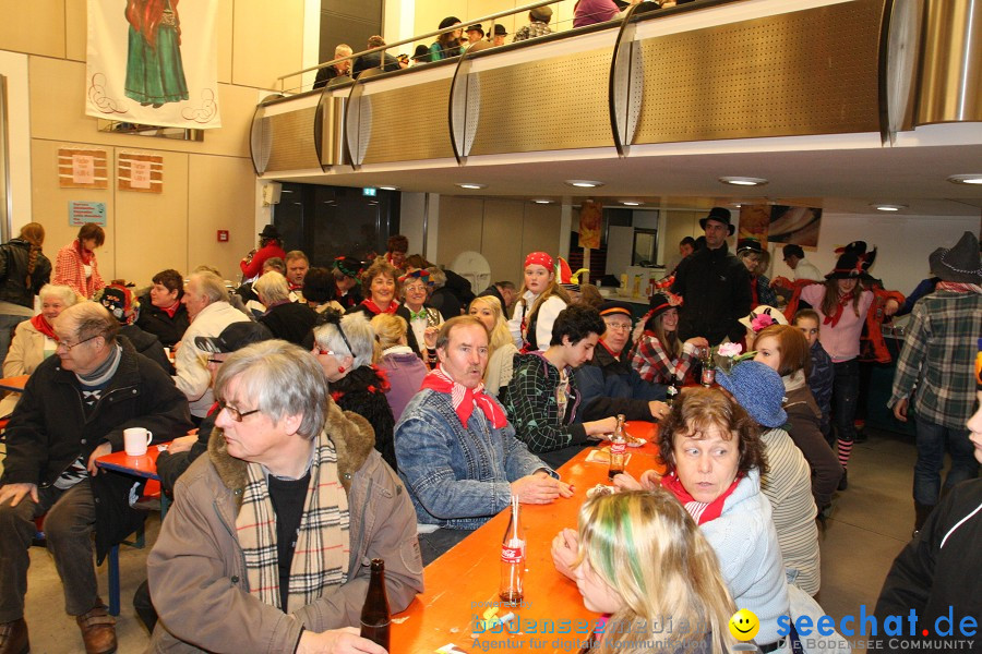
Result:
M627 420L659 420L668 415L664 386L648 384L631 367L631 304L608 300L600 305L607 330L587 365L576 370L583 392L580 420L600 420L623 413Z

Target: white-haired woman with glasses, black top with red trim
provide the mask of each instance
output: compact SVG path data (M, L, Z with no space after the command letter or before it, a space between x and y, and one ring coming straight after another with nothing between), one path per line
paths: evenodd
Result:
M393 428L395 419L385 392L388 380L375 365L375 332L364 313L342 317L325 311L313 331L313 353L327 377L331 397L345 411L363 416L375 431L375 449L398 472Z

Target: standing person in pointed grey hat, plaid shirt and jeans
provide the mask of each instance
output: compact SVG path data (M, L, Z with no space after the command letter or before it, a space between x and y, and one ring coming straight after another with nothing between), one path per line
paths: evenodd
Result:
M930 262L941 281L914 304L888 402L897 420L907 422L917 387L915 531L938 502L945 450L951 456L945 489L979 475L965 426L975 403L971 373L975 340L982 335L979 240L967 231L954 247L935 250Z

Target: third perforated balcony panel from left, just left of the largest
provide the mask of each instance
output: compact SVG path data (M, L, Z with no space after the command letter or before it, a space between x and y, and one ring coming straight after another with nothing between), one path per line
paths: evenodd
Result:
M481 109L470 155L610 147L613 48L477 73Z

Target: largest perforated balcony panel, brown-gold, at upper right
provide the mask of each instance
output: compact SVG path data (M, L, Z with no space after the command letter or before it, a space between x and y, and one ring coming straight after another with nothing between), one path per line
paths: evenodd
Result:
M634 143L877 132L883 0L640 41Z

